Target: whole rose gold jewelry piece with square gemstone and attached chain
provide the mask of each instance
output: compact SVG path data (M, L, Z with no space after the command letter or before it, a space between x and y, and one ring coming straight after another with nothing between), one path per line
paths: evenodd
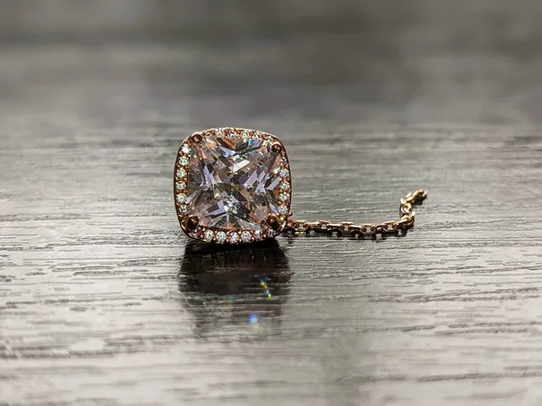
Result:
M308 222L290 217L292 177L275 135L243 128L194 133L179 148L173 172L177 217L184 233L215 244L248 244L283 232L377 235L414 225L423 189L401 199L397 221L382 224Z

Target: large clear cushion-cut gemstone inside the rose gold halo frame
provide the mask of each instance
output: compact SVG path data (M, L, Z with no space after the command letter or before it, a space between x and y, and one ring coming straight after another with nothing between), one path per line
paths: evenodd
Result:
M276 140L236 134L201 134L190 156L189 213L200 226L266 230L266 217L279 214L281 161Z

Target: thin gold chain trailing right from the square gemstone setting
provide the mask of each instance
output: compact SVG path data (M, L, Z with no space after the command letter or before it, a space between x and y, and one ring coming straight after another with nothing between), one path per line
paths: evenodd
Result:
M288 220L285 231L289 233L340 233L353 235L377 235L393 234L399 230L407 230L414 226L415 212L412 208L421 204L427 198L427 191L418 189L415 192L408 193L405 198L401 198L399 215L401 218L397 221L385 221L380 224L359 224L343 221L341 223L332 223L331 221L318 220L309 222L306 220Z

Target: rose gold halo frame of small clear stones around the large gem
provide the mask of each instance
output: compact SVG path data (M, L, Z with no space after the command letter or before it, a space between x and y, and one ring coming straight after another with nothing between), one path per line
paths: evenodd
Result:
M198 218L192 216L191 208L186 203L186 200L188 198L187 187L190 178L190 158L192 154L196 153L194 151L194 146L201 143L205 134L225 138L240 136L244 142L248 142L251 139L269 140L272 142L271 150L281 155L280 166L276 168L277 172L275 172L278 173L281 179L279 183L278 214L270 215L266 218L266 226L269 226L270 228L266 230L251 230L244 228L223 229L198 225ZM284 144L274 135L245 128L212 128L194 133L182 142L179 151L177 152L177 159L173 171L173 195L177 217L179 218L182 230L186 235L192 238L213 244L238 245L254 243L266 238L275 237L283 232L287 225L288 218L292 216L290 211L292 200L292 178Z

